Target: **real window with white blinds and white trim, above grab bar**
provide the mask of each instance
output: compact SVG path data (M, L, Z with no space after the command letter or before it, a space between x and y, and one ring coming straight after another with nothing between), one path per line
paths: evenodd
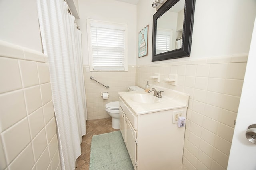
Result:
M126 71L126 25L88 21L90 70Z

